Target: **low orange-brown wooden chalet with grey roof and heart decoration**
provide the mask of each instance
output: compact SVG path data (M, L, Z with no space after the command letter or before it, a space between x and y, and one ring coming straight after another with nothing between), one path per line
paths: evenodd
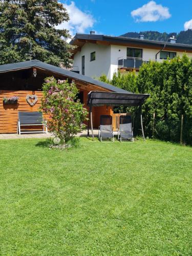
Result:
M42 98L42 84L45 78L54 76L56 79L74 80L79 89L78 97L87 106L88 93L90 91L129 93L120 88L111 86L90 77L58 68L47 63L31 60L11 63L0 66L0 133L16 133L18 111L35 112L39 110ZM37 101L31 105L26 97L35 95ZM16 103L4 102L4 98L18 96ZM32 99L33 103L33 99ZM93 106L93 127L98 128L100 115L112 115L114 129L117 127L117 115L113 113L111 106Z

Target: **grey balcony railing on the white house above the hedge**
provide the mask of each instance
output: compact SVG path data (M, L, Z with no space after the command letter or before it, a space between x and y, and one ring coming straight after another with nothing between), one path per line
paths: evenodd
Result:
M119 68L130 68L130 69L139 69L142 63L147 63L150 60L146 60L143 58L135 58L135 57L119 57L118 58L118 67Z

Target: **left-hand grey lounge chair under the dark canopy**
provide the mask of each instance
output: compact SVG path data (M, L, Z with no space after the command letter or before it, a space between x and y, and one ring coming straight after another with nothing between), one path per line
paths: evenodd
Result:
M99 139L102 141L102 138L113 139L113 127L112 127L112 116L101 115L100 116L100 126L99 126Z

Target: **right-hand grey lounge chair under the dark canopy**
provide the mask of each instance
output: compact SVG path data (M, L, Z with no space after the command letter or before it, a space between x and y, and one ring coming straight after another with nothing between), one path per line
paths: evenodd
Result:
M134 141L131 116L121 115L119 117L118 140L119 139L120 141L122 141L122 139Z

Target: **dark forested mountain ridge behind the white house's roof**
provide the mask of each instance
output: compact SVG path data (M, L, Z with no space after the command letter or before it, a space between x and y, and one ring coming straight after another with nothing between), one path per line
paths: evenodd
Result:
M137 38L139 35L144 35L144 39L148 40L157 40L157 41L167 41L169 37L175 36L177 38L177 42L180 44L192 45L192 30L188 29L186 31L181 31L179 33L160 33L158 31L141 31L138 32L128 32L121 36Z

